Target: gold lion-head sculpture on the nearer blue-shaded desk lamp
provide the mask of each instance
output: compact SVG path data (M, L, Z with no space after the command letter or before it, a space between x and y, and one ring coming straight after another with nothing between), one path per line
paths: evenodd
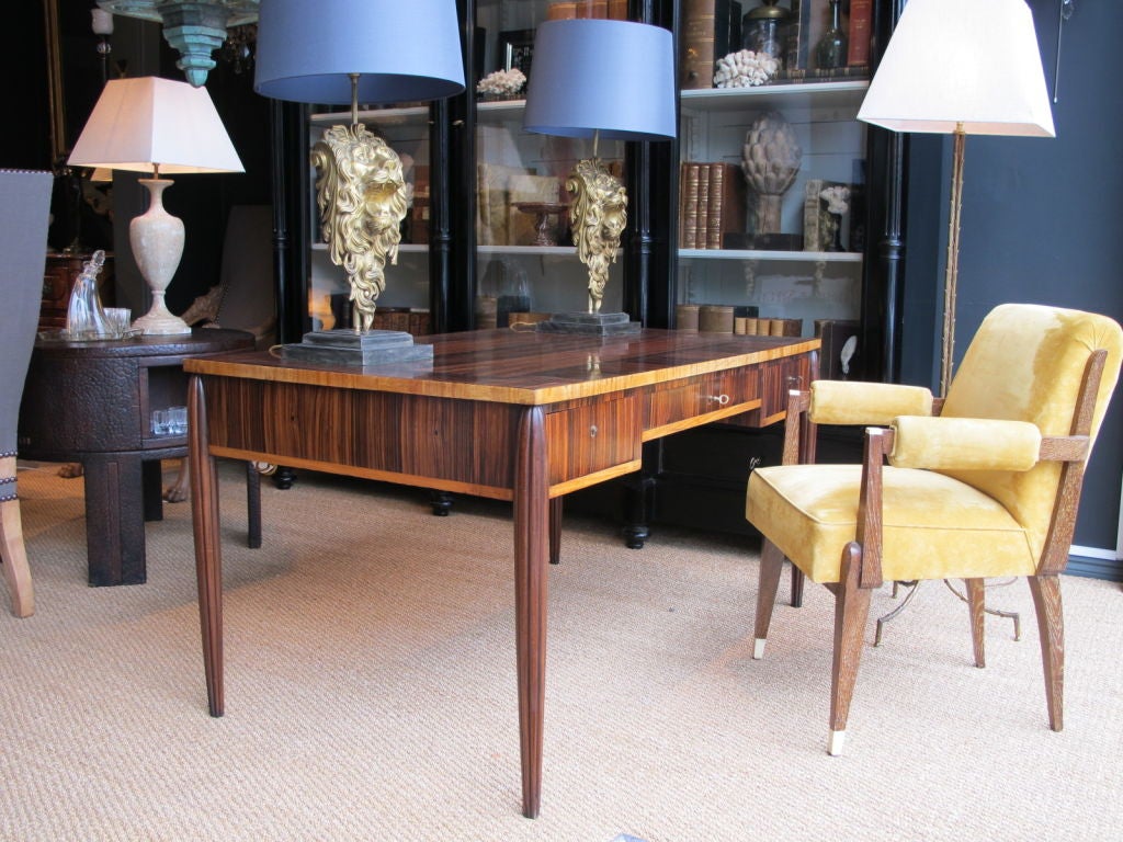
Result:
M386 141L362 123L332 126L312 147L316 201L331 262L350 283L355 329L374 323L385 265L398 263L408 195L402 162Z

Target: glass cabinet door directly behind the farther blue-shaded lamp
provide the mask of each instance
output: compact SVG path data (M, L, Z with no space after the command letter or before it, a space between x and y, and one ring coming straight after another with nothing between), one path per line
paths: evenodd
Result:
M569 232L566 180L593 156L592 140L522 130L537 26L559 17L626 16L627 3L477 0L476 327L536 321L588 309L588 272ZM512 79L513 76L513 79ZM596 155L622 177L624 144L602 140ZM623 268L610 269L603 310L622 310ZM511 313L514 313L512 317Z

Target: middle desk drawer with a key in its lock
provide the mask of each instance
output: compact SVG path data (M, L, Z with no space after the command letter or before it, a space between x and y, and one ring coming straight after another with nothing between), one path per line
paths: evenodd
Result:
M760 375L755 368L711 372L659 384L648 394L645 438L693 427L701 417L738 414L755 409L759 402Z

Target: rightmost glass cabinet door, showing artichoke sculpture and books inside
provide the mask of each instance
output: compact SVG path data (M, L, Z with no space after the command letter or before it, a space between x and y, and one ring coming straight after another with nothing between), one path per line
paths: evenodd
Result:
M706 44L709 28L700 21L707 6L713 3L683 7L684 56L700 53L696 42ZM746 11L752 6L741 4ZM701 66L687 74L693 65L684 60L673 211L676 324L827 336L838 353L823 357L823 370L838 374L843 347L847 367L853 354L855 344L846 346L846 339L861 332L874 254L867 190L873 162L866 126L856 118L869 86L874 12L883 4L867 0L833 16L828 0L779 6L789 10L788 28L778 67L768 67L773 75L764 83L718 88L729 82L703 79ZM816 52L832 17L861 47L841 54L837 67L821 66L825 60ZM745 46L751 46L752 26L746 15ZM729 46L730 53L738 46ZM711 52L714 60L729 55Z

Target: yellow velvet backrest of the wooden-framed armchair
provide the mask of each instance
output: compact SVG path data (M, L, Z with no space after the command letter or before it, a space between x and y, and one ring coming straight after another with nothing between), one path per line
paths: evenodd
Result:
M1123 357L1112 319L1037 304L1003 304L984 319L948 390L941 415L1029 421L1042 436L1071 432L1088 358L1107 351L1090 436L1099 431ZM1057 498L1061 464L1024 473L946 472L1001 501L1030 534L1040 558Z

